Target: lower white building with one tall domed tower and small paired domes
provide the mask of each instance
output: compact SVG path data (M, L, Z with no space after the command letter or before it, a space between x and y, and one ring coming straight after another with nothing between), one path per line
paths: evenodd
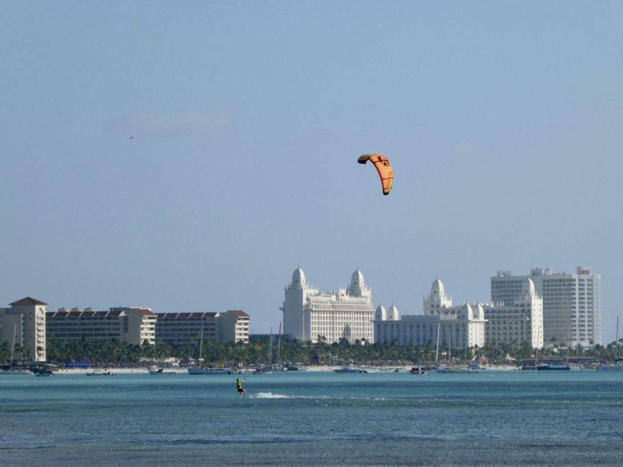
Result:
M402 345L436 345L447 349L485 345L485 315L482 304L452 305L442 281L436 279L424 300L422 314L401 316L394 305L374 313L374 341Z

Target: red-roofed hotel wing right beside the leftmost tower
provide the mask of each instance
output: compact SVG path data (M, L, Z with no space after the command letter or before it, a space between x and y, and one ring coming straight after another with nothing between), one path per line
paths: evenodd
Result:
M150 308L118 307L108 311L93 308L60 308L46 313L47 339L62 344L87 339L118 339L141 346L155 344L156 314Z

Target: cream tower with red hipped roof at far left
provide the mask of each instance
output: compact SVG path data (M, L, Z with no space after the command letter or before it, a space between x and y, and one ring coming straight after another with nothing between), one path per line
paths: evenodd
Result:
M45 315L44 303L31 297L9 303L11 308L0 308L0 336L2 342L14 347L19 344L24 354L17 352L16 359L32 359L45 362Z

